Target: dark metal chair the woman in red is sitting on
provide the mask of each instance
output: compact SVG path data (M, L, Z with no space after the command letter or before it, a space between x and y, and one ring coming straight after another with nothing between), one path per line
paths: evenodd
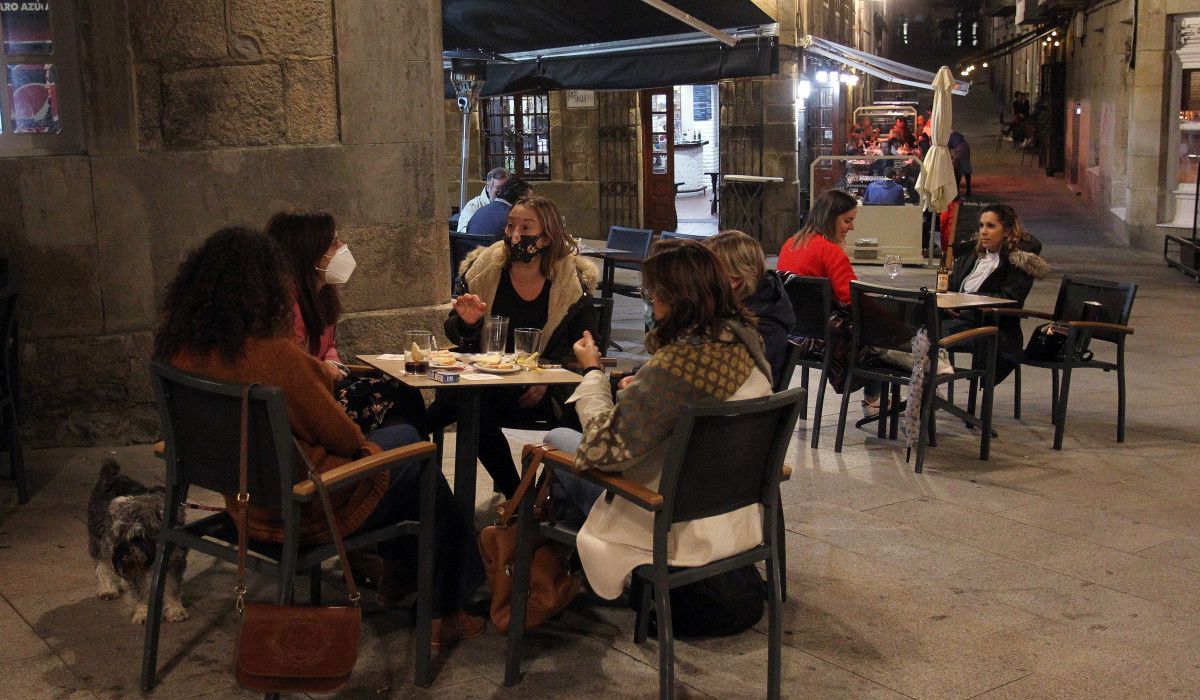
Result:
M822 352L820 357L808 353L798 353L796 364L800 370L800 387L808 391L809 370L820 370L817 379L817 396L812 405L812 420L809 421L809 431L812 432L812 448L816 449L821 442L821 412L824 407L824 389L829 376L829 361L833 357L833 339L829 335L829 316L833 315L833 287L828 277L802 277L791 275L784 280L784 291L787 292L792 301L792 311L796 313L796 327L792 335L797 340L820 340ZM814 343L815 345L815 343ZM800 405L800 418L808 419L809 406L808 394Z

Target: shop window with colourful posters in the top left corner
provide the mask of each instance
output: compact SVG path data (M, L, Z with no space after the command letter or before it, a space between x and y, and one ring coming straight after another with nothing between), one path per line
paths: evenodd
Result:
M79 149L71 4L0 2L0 155Z

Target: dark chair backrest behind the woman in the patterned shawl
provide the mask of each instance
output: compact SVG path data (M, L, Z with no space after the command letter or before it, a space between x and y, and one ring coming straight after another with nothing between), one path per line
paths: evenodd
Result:
M686 407L676 423L659 483L667 522L732 513L752 503L769 507L803 400L804 389L797 388Z

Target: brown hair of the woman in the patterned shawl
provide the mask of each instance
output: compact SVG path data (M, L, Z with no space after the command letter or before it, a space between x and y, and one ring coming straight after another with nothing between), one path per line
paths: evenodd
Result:
M642 281L655 299L671 306L650 331L652 348L684 335L716 340L730 321L754 324L733 295L721 261L701 243L673 239L654 244L642 261Z

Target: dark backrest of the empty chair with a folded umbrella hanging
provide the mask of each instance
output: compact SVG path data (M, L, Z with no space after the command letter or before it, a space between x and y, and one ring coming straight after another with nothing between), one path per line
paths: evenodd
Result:
M938 339L937 297L928 289L893 289L856 280L850 283L850 315L854 348L911 352L922 327L931 342Z

